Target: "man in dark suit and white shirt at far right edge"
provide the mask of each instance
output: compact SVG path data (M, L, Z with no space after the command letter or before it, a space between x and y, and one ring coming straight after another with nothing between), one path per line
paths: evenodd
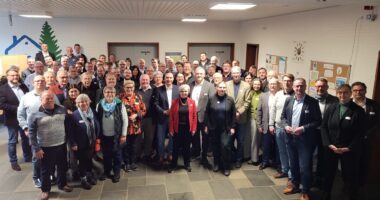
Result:
M371 141L376 141L376 132L380 128L380 105L376 101L366 98L367 86L363 82L355 82L352 84L352 98L353 102L358 106L362 107L366 114L367 119L367 131L363 137L362 143L362 154L360 156L360 184L364 185L367 182L369 162L371 157L373 157L373 145L375 143Z

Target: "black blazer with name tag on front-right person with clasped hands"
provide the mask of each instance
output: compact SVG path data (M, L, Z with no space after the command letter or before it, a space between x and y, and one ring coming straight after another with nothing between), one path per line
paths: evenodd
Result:
M348 110L340 118L339 103L330 106L323 117L321 126L322 143L328 147L348 147L355 151L366 130L366 118L363 108L354 102L348 103Z

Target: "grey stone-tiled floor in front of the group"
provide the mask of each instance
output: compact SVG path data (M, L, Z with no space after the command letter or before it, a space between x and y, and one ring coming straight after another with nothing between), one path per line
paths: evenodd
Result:
M6 140L7 131L0 127L0 200L38 199L40 190L33 187L31 164L20 162L21 172L11 170ZM20 150L18 154L20 158ZM198 162L192 162L192 169L192 172L180 169L168 174L166 170L139 165L138 171L123 172L121 181L116 184L110 180L99 181L91 190L82 190L78 183L70 183L75 187L71 193L58 191L56 186L53 186L50 199L299 199L298 194L282 194L286 179L273 179L273 169L260 171L258 167L244 164L241 169L232 170L229 177L206 170ZM317 198L314 195L312 199Z

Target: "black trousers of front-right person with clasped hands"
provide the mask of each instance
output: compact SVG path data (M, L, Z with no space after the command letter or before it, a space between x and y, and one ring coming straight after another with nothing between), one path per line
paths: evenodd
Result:
M358 152L347 152L336 154L332 150L325 148L325 180L323 182L323 199L331 199L331 190L334 177L338 169L338 161L341 162L342 178L345 188L347 188L350 199L357 199L358 196Z

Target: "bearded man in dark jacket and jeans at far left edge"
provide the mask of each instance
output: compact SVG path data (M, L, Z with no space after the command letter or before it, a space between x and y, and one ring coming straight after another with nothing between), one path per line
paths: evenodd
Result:
M7 71L7 81L0 86L0 109L4 111L5 126L8 128L8 156L11 167L15 171L20 171L21 167L17 163L16 144L18 135L21 136L21 145L25 162L32 160L32 151L29 145L28 136L19 126L17 121L17 107L20 99L28 92L28 88L24 84L19 84L20 74L19 68L11 66Z

